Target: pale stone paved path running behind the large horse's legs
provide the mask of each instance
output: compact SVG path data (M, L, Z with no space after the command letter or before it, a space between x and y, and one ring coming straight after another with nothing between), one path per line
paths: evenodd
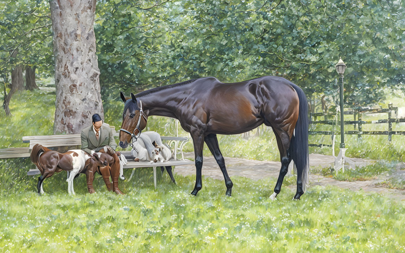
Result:
M194 153L185 153L185 158L194 158ZM262 179L264 177L278 177L279 171L281 168L280 162L271 162L271 161L257 161L249 160L243 158L232 158L224 157L226 168L229 176L245 176L252 179ZM354 158L357 166L364 166L373 162L373 160ZM310 154L309 155L309 164L311 166L330 166L333 164L333 156L330 155L320 155L320 154ZM175 168L175 173L181 175L195 175L196 169L194 165L185 165L178 166ZM400 176L405 176L404 170L398 170L396 173L401 174ZM202 174L204 176L209 176L213 179L224 180L224 176L220 168L217 165L213 156L204 157L203 161L203 170ZM341 188L348 188L353 191L359 191L360 189L366 192L377 192L382 193L385 196L389 196L396 200L405 200L405 191L387 189L384 187L375 186L376 183L384 181L386 177L382 176L377 179L368 180L368 181L354 181L354 182L345 182L337 181L328 177L321 175L310 174L309 181L311 185L336 185ZM310 187L309 186L309 187ZM294 185L290 187L295 188Z

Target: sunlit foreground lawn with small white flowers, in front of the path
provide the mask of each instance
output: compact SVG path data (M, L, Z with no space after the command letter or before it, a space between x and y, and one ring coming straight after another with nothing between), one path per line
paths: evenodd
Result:
M85 193L84 176L75 180L75 196L67 195L63 176L44 181L44 196L32 191L36 177L27 191L2 188L0 251L405 250L405 206L378 194L316 186L293 201L295 189L283 185L271 201L275 179L234 177L228 198L223 181L204 177L194 197L194 176L176 175L174 185L165 174L155 190L151 174L137 169L133 181L120 181L125 196L107 192L100 180L95 194Z

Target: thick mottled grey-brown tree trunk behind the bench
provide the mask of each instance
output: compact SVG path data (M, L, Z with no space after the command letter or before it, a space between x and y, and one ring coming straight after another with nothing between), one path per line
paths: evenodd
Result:
M78 134L94 113L104 118L96 56L96 0L50 0L55 57L53 132Z

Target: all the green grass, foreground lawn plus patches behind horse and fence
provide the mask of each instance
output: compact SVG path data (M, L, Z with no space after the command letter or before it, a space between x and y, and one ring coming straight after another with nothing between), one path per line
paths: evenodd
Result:
M0 113L0 146L27 146L21 142L22 136L52 134L54 99L54 94L42 91L17 92L11 101L14 116ZM103 98L103 105L106 122L118 130L122 102L111 96ZM173 122L150 117L146 130L171 135ZM241 135L218 136L222 153L278 160L274 134L269 128L262 130L259 136L252 132L248 140ZM179 128L179 136L188 133ZM315 143L322 137L310 138ZM348 136L347 154L403 161L401 138L405 137L393 136L389 144L386 136L364 136L361 141ZM192 150L189 142L185 151ZM319 150L310 149L331 153L330 149ZM209 153L205 147L204 154ZM155 190L151 168L142 168L135 170L130 182L120 181L125 196L107 192L99 175L94 181L96 194L87 193L85 176L81 175L75 179L77 195L68 196L66 172L46 179L43 188L47 193L37 196L37 176L26 175L30 168L34 165L29 158L0 159L0 252L405 251L404 203L376 193L314 186L301 201L292 201L295 183L290 176L284 180L277 201L271 201L275 179L232 177L234 187L228 198L223 181L204 177L203 189L194 197L190 192L195 176L175 175L174 185L167 173L158 173ZM376 163L339 172L337 177L358 180L390 173L391 169L388 163ZM124 171L127 178L131 171Z

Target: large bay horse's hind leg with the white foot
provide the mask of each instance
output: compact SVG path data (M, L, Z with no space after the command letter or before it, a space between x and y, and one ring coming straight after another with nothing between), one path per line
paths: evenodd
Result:
M277 194L279 194L281 191L281 185L283 183L284 176L286 176L288 172L288 165L290 165L291 162L291 155L288 152L288 148L290 147L290 137L288 136L288 134L282 129L275 128L273 128L273 132L276 136L281 160L280 174L277 179L276 186L274 187L274 193L270 196L272 200L275 200Z

